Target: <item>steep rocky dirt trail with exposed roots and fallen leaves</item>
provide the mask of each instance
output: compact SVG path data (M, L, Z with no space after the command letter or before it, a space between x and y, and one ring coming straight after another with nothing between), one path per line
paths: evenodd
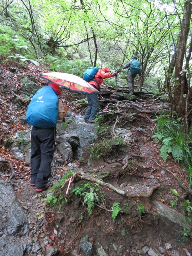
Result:
M66 123L57 124L53 187L30 187L25 115L46 84L43 72L43 65L0 66L0 256L191 256L189 174L159 155L152 131L169 104L150 92L116 94L103 85L99 126L77 116L85 97L70 93ZM94 195L91 208L83 192Z

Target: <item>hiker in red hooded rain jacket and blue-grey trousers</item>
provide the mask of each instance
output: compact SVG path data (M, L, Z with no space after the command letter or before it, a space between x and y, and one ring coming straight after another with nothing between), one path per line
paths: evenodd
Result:
M91 84L98 91L100 91L100 85L103 83L103 79L113 76L117 76L117 72L112 74L107 67L103 67L95 74L93 81L90 81L89 84ZM86 96L89 106L85 112L84 119L85 122L94 123L93 120L95 119L95 116L97 115L97 112L99 110L98 96L97 93L86 94Z

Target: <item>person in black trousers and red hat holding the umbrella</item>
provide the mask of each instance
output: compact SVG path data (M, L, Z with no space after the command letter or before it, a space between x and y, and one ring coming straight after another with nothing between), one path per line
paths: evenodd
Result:
M61 95L60 87L57 84L49 84ZM68 111L67 106L63 106L62 101L58 101L58 119L63 119ZM39 108L41 112L41 108ZM44 113L42 113L43 115ZM48 179L51 176L51 163L55 146L55 127L38 128L31 127L31 183L36 187L36 191L41 192L49 187Z

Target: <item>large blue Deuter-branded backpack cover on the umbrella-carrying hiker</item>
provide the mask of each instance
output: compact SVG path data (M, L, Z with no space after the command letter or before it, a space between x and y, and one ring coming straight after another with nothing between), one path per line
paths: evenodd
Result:
M57 124L59 98L51 86L36 92L28 105L26 119L38 128L52 128Z

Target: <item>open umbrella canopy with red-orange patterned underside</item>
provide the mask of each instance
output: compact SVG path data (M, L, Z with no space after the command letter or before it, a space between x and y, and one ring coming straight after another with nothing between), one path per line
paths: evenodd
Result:
M49 82L52 82L52 83L58 84L59 86L67 88L73 92L99 93L97 89L95 89L91 84L87 83L79 76L75 76L72 74L52 72L52 73L41 74L40 77L48 80Z

